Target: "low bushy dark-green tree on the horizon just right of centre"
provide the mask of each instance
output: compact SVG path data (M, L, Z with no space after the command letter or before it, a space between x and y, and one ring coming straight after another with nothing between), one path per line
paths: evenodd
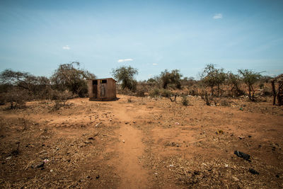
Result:
M162 81L162 87L167 88L168 84L175 84L176 88L181 88L181 77L180 70L173 69L169 72L167 69L161 72L160 78Z

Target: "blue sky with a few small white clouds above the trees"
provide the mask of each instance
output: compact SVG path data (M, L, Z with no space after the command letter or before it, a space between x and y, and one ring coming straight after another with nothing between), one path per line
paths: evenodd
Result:
M283 0L0 1L0 71L51 76L81 62L98 78L164 69L197 78L206 64L283 73Z

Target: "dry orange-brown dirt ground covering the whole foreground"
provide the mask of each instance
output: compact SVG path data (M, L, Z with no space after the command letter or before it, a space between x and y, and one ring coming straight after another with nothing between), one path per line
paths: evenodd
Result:
M0 107L1 188L282 188L283 108L246 98ZM249 154L250 159L234 151Z

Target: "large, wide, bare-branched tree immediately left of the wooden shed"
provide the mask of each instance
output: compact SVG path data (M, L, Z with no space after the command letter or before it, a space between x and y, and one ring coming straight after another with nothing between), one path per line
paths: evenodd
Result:
M80 69L79 65L79 62L60 64L51 77L52 84L60 91L69 90L79 96L86 96L88 93L86 79L95 79L96 76Z

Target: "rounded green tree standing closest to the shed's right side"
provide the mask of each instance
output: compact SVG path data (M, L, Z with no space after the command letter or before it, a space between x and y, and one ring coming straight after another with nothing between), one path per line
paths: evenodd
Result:
M138 74L137 69L133 67L118 67L112 69L112 76L119 82L122 82L122 89L128 88L131 91L135 91L137 88L137 81L134 79L134 75Z

